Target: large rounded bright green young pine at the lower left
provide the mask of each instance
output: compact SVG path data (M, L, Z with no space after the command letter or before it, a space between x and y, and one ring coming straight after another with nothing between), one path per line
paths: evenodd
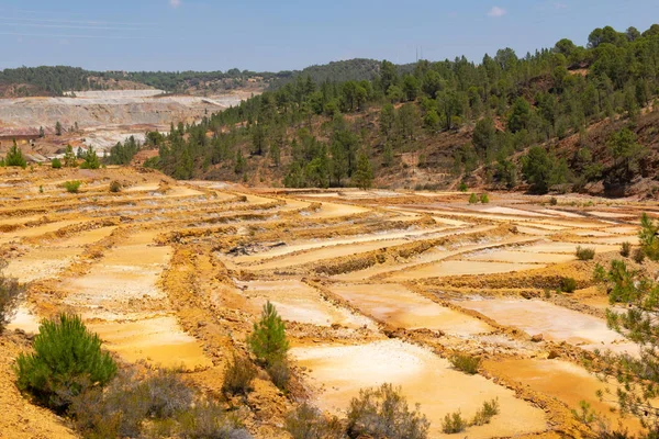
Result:
M16 359L16 384L36 401L59 413L87 386L104 385L116 374L116 363L101 350L98 335L79 316L60 314L43 320L34 352Z

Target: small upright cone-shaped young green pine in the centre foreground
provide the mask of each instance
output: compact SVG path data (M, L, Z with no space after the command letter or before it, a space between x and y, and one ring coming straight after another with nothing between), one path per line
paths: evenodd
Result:
M269 301L264 305L260 320L254 324L247 344L259 361L266 365L286 359L289 348L286 326L277 314L275 305Z

